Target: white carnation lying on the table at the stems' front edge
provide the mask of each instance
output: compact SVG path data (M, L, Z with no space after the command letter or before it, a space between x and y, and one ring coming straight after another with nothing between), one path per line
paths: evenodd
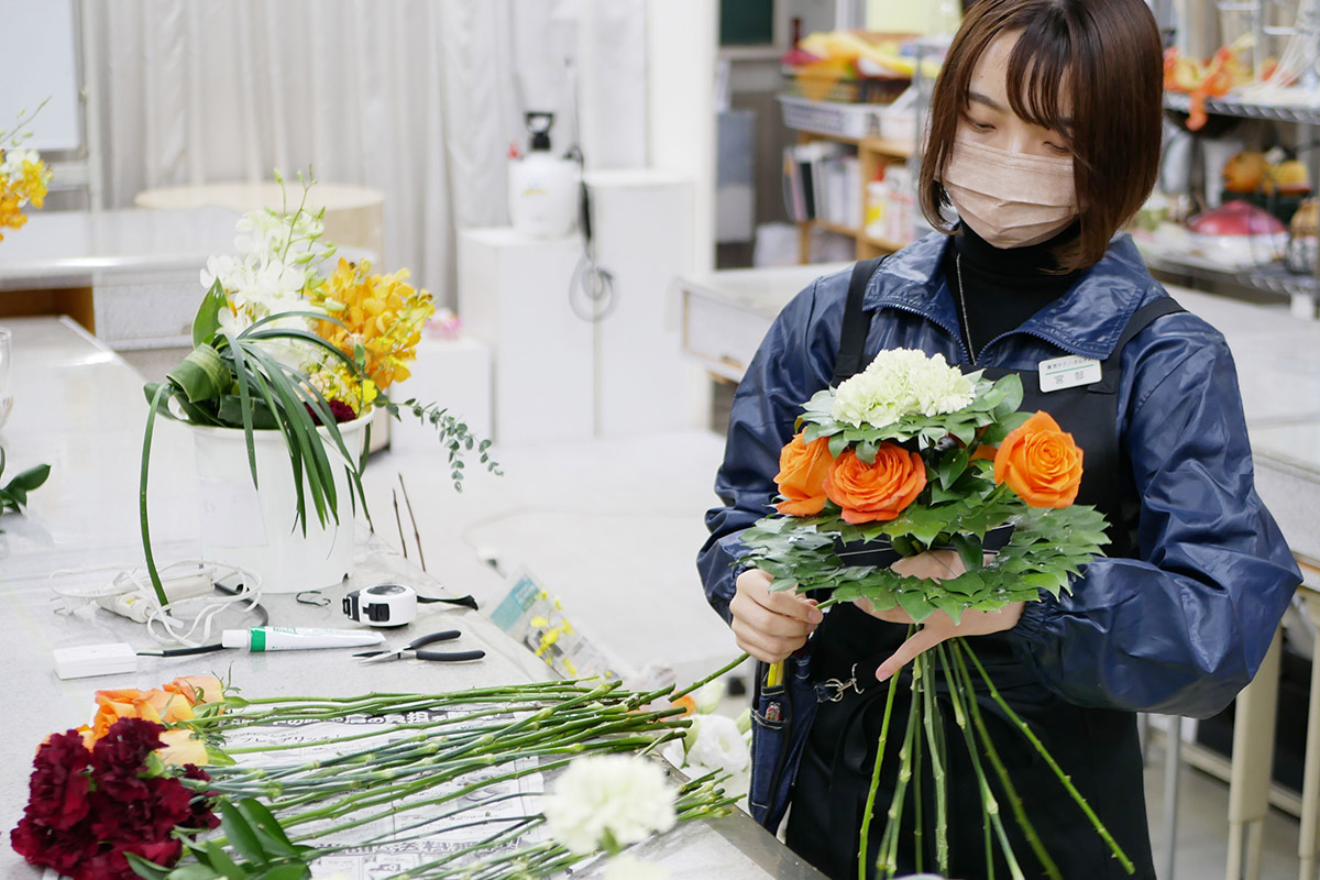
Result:
M627 846L675 823L677 790L659 764L642 757L579 757L544 801L550 836L586 855L611 842Z

